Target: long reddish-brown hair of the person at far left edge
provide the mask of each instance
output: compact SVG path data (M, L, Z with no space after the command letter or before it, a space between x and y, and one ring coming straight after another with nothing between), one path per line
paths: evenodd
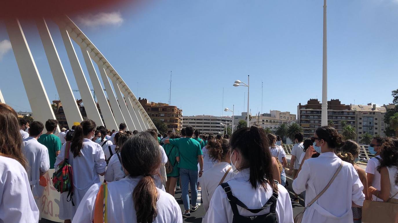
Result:
M0 103L0 156L17 160L26 170L28 164L22 153L21 144L17 113L12 107Z

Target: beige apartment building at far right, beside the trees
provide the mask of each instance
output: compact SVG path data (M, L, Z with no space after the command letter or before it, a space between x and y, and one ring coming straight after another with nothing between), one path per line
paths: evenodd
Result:
M361 143L365 132L373 136L386 136L384 134L386 124L383 121L386 107L376 107L376 105L350 105L350 107L355 111L357 142Z

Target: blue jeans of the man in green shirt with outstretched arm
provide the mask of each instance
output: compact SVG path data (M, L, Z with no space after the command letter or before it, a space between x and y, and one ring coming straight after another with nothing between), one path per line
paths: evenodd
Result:
M184 209L189 210L188 188L189 184L191 184L191 204L195 206L198 193L196 188L198 183L198 171L179 168L179 177L181 178L181 199L184 204Z

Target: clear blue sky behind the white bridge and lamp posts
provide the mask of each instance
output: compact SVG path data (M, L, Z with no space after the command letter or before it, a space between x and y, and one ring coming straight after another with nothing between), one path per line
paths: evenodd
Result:
M72 19L137 97L167 103L173 71L171 101L184 115L221 115L222 88L224 107L234 104L239 114L247 107L247 88L232 84L250 74L252 113L261 112L263 82L263 112L297 114L298 103L322 98L322 6L322 0L152 1ZM70 86L77 89L59 29L48 23ZM21 25L52 101L58 93L35 23ZM329 100L391 103L391 91L398 88L396 27L397 0L328 1ZM80 51L78 56L88 77ZM15 57L4 44L0 67L6 102L29 110ZM80 99L78 92L75 97Z

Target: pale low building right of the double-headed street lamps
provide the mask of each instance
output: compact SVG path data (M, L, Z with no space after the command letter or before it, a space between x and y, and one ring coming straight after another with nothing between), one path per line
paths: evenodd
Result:
M269 111L269 113L259 114L252 116L250 124L258 124L262 128L270 128L271 131L275 132L278 126L282 123L291 123L296 121L296 115L290 114L290 112L281 112L277 110Z

